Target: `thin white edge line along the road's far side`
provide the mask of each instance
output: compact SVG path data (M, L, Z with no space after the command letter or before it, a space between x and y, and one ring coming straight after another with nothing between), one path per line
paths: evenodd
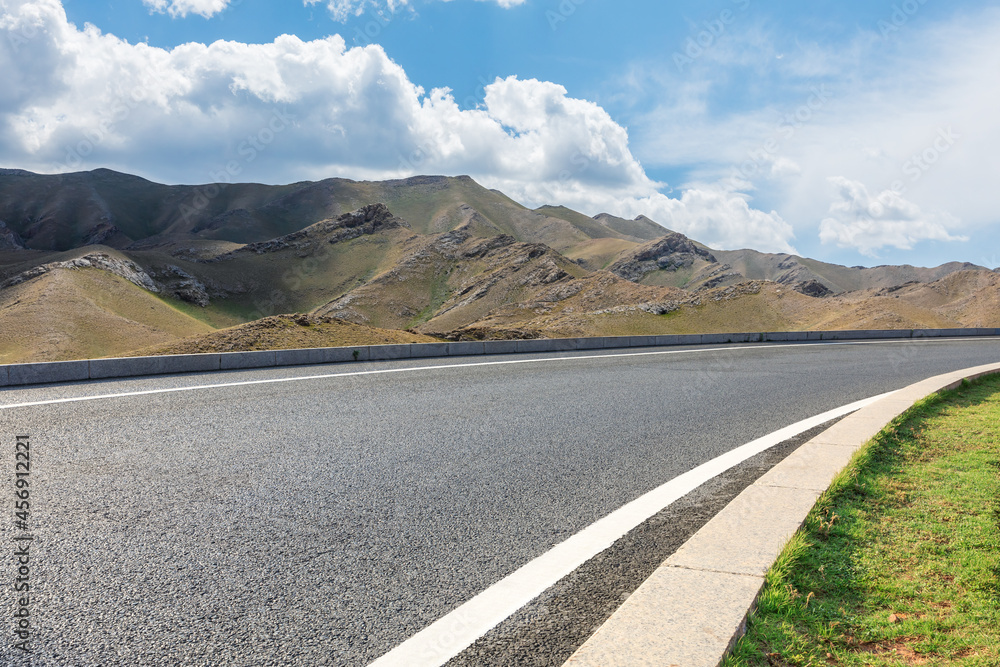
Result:
M464 364L441 364L438 366L415 366L412 368L383 368L376 370L367 371L353 371L348 373L325 373L322 375L303 375L297 377L284 377L284 378L269 378L266 380L245 380L242 382L222 382L217 384L202 384L202 385L192 385L190 387L170 387L165 389L145 389L140 391L127 391L115 394L94 394L92 396L74 396L71 398L53 398L41 401L27 401L24 403L9 403L7 405L0 405L0 410L10 410L12 408L30 408L39 405L58 405L61 403L81 403L84 401L101 401L110 398L128 398L131 396L152 396L155 394L172 394L184 391L204 391L207 389L225 389L227 387L248 387L252 385L263 385L263 384L277 384L280 382L307 382L311 380L326 380L331 378L341 378L341 377L358 377L362 375L384 375L388 373L415 373L417 371L433 371L433 370L445 370L452 368L475 368L477 366L507 366L513 364L540 364L548 362L559 362L559 361L577 361L581 359L615 359L622 357L646 357L646 356L658 356L658 355L671 355L671 354L702 354L707 352L724 352L724 351L739 351L739 350L769 350L776 347L781 348L792 348L792 347L822 347L828 345L887 345L893 343L947 343L947 342L966 342L969 339L954 338L954 339L926 339L926 340L872 340L872 341L816 341L816 342L806 342L806 343L775 343L771 345L764 345L760 343L751 345L741 345L738 347L710 347L710 348L699 348L695 350L661 350L658 352L622 352L618 354L590 354L590 355L580 355L571 357L544 357L541 359L509 359L506 361L480 361L480 362L470 362ZM1000 338L976 338L976 341L984 340L1000 340ZM569 350L572 351L572 350ZM268 368L258 368L249 369L255 371L267 371ZM215 371L215 372L225 372L225 371ZM109 378L114 379L114 378ZM121 381L130 380L133 378L120 378ZM19 387L9 388L13 391L17 391Z

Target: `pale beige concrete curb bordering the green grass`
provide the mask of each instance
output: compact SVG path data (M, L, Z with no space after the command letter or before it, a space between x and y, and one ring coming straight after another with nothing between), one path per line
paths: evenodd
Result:
M573 667L718 667L764 575L838 472L894 418L1000 364L929 378L848 415L747 487L668 558L566 662Z

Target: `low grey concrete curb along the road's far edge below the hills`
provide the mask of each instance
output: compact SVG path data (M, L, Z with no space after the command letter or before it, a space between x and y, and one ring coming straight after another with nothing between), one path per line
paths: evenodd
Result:
M274 368L349 361L384 361L435 357L476 356L532 352L568 352L631 347L726 345L729 343L890 340L1000 336L1000 329L916 329L882 331L773 331L765 333L691 334L665 336L610 336L597 338L538 338L460 343L360 345L266 352L177 354L158 357L116 357L83 361L0 365L0 387L52 382L79 382L107 378L172 373Z

